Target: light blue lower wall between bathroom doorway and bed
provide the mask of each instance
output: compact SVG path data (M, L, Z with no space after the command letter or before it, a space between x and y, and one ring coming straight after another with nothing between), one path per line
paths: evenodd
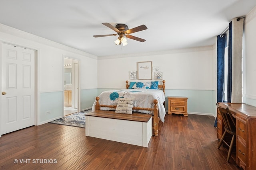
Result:
M95 98L98 96L98 89L81 90L81 111L91 108Z

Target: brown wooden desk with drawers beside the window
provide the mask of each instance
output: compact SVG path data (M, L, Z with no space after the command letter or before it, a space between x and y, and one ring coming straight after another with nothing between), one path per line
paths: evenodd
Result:
M229 107L230 112L236 118L236 164L245 170L255 170L256 107L235 103L218 103L218 105L220 107ZM222 128L219 127L220 125L222 126L222 120L220 120L219 115L217 119L219 130L219 128ZM221 131L220 133L223 133L224 129Z

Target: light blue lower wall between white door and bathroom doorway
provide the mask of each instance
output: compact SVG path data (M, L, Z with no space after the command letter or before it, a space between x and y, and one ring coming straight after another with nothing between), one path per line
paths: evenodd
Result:
M40 94L40 123L47 123L63 116L63 91ZM49 113L50 112L50 113Z

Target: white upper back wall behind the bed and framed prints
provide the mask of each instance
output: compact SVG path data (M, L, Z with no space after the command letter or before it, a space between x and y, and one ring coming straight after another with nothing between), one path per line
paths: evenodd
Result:
M137 70L137 62L152 61L152 66L159 66L163 72L166 89L216 90L214 54L214 46L207 46L130 57L98 57L98 88L126 88L125 81L130 71ZM154 80L154 72L152 75Z

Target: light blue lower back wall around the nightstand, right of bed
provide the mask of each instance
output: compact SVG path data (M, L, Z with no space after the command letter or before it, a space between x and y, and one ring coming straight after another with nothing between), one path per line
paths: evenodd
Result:
M212 115L216 117L215 90L165 90L166 111L168 96L185 96L188 98L188 114Z

